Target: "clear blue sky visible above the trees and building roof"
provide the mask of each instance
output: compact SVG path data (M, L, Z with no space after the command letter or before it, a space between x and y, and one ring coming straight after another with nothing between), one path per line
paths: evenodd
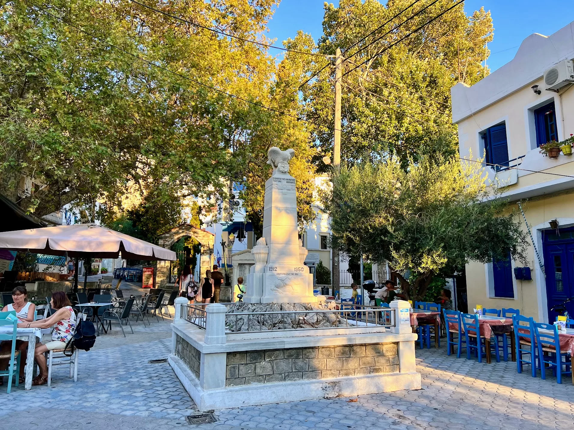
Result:
M512 60L529 34L548 36L574 21L572 0L467 0L464 7L467 14L471 14L480 6L491 11L494 23L494 41L488 46L491 54L487 64L491 71ZM276 44L281 46L281 42L293 38L297 30L303 30L311 33L316 41L323 34L322 22L323 1L282 0L269 22L267 37L277 38Z

